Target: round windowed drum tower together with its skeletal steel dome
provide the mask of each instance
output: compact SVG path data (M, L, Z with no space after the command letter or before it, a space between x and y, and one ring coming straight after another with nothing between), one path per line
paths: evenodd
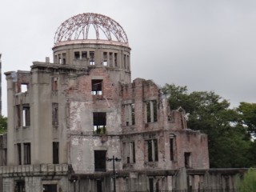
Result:
M129 83L130 47L126 32L102 14L78 14L62 22L54 37L54 63L104 67L115 82Z

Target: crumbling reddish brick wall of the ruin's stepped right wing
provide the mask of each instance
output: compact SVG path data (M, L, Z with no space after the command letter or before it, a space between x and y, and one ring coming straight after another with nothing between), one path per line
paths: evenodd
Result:
M182 168L186 166L185 153L190 153L190 167L209 168L206 134L187 129L184 110L170 111L165 96L154 82L137 78L122 85L121 95L122 106L134 103L135 116L135 124L127 125L126 110L122 107L122 142L134 141L136 146L136 163L124 161L125 170ZM157 103L157 120L154 122L147 121L147 101ZM174 142L172 146L170 137ZM158 141L158 161L148 162L146 142L152 139ZM173 147L174 159L170 159L170 147ZM124 151L122 155L125 156Z

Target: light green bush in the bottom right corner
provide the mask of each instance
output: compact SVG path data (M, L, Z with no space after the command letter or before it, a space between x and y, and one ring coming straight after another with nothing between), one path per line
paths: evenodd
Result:
M256 170L250 168L244 174L244 177L241 182L238 182L239 192L252 192L256 191Z

